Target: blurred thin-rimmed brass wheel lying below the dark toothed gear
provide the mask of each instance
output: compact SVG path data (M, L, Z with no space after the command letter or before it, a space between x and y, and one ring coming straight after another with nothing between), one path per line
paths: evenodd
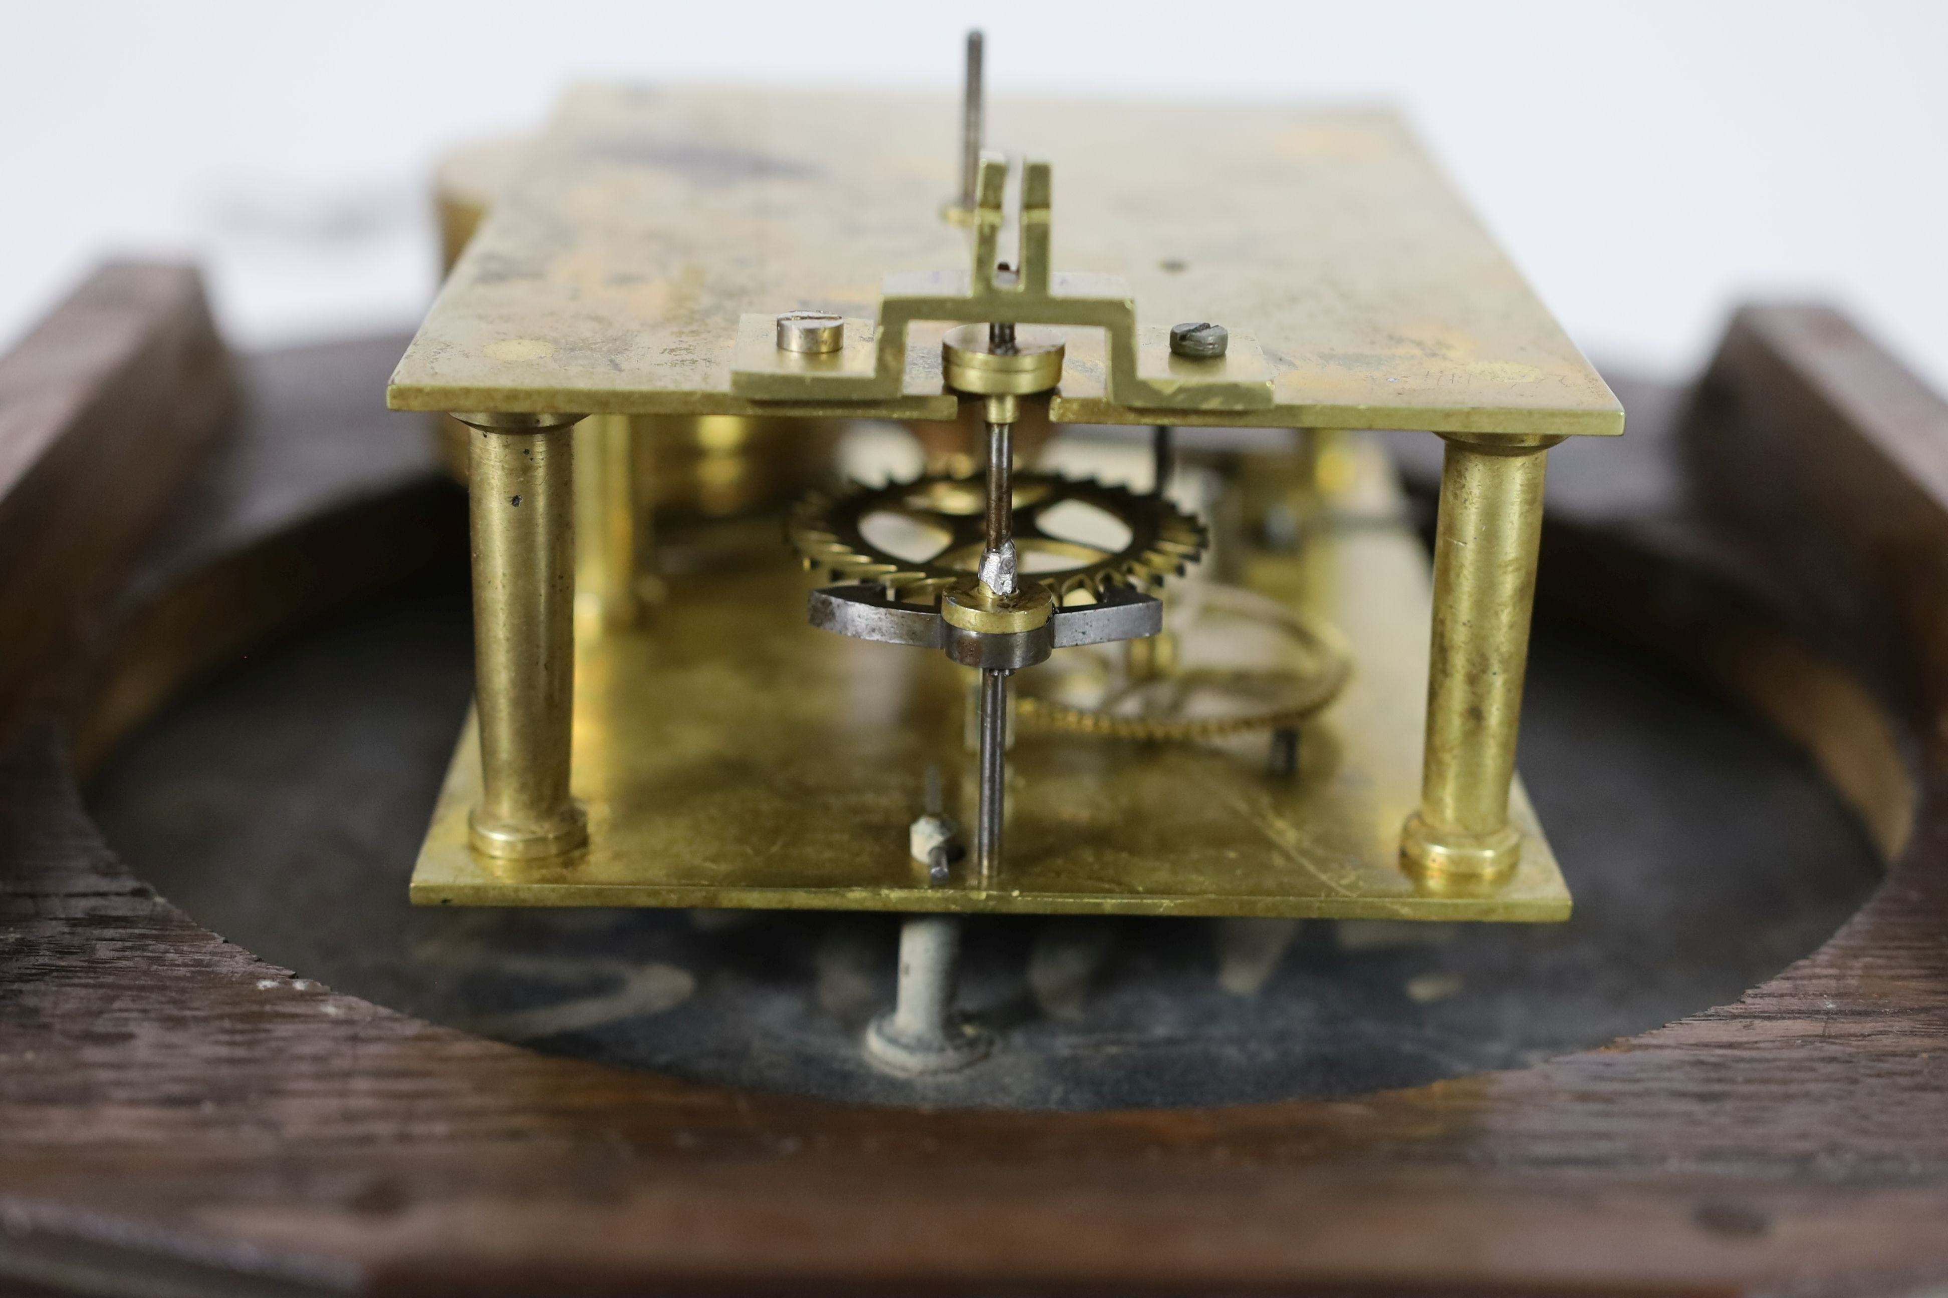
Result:
M1204 586L1198 607L1177 621L1165 632L1179 646L1175 664L1132 673L1126 658L1101 648L1058 654L1023 679L1017 718L1151 743L1221 739L1295 726L1338 699L1352 675L1332 625L1249 590Z

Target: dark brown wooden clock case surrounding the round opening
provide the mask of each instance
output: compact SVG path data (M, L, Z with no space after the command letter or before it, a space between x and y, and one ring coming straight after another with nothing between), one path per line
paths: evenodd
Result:
M76 346L111 385L138 337ZM0 368L19 374L18 356ZM168 376L148 383L148 409L175 399ZM349 465L423 446L378 393L304 403ZM0 1275L129 1294L1940 1284L1944 422L1831 311L1751 309L1675 440L1638 451L1648 477L1560 510L1545 549L1545 599L1743 689L1899 847L1817 954L1736 1004L1517 1072L1338 1103L947 1113L711 1090L432 1028L259 961L134 878L82 810L70 736L101 745L240 652L228 617L253 601L275 597L247 625L263 638L454 555L454 494L427 451L341 477L263 453L251 477L234 459L245 416L203 469L236 490L185 492L195 516L158 533L177 559L64 586L99 627L94 654L12 683L60 677L49 697L72 703L23 720L0 757ZM86 418L51 415L39 436L84 448L47 490L129 473L86 450ZM1632 502L1630 481L1662 485ZM37 518L37 553L99 525ZM362 531L380 559L358 584L331 578ZM185 597L199 615L169 613ZM162 623L177 666L127 685L148 662L127 646Z

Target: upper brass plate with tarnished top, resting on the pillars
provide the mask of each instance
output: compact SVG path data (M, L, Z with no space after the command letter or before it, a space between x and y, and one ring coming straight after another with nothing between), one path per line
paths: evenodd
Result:
M1623 430L1609 387L1391 113L1003 97L988 121L995 146L1054 163L1056 270L1126 278L1145 339L1210 319L1262 348L1270 409L1173 422ZM882 276L964 274L966 235L939 218L956 132L945 97L579 90L388 401L953 418L945 325L914 327L896 401L752 401L730 395L730 370L746 313L836 311L853 337ZM1099 333L1069 331L1052 416L1153 422L1103 399Z

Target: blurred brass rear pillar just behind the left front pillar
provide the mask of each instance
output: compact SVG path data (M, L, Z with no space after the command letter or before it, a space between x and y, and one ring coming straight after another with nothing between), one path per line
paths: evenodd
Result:
M635 422L592 415L575 426L575 613L590 631L643 623L637 557L647 518L637 504Z

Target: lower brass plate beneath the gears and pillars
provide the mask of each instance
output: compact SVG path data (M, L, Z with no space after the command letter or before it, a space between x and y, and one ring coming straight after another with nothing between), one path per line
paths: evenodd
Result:
M1480 897L1416 891L1399 868L1420 792L1428 559L1391 469L1364 448L1338 523L1303 555L1255 555L1247 584L1334 621L1354 679L1305 728L1295 780L1266 738L1143 745L1023 726L1009 755L1005 874L929 887L908 856L929 761L970 823L960 669L805 623L775 568L672 578L647 632L584 636L575 790L590 847L553 864L468 848L479 784L468 722L434 810L421 905L806 907L1073 915L1560 920L1570 895L1517 782L1525 850ZM1062 650L1071 652L1071 650Z

